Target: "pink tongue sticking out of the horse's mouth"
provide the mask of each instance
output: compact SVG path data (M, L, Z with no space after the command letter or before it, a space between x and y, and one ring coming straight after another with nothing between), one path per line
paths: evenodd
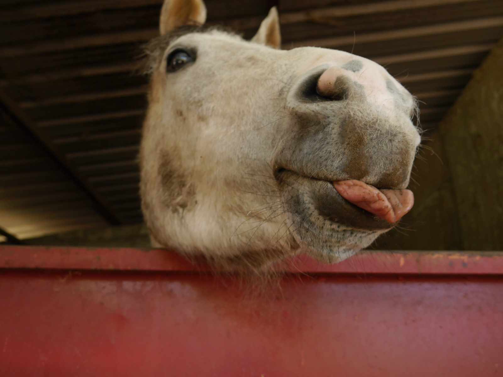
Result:
M414 204L410 190L378 190L356 179L335 181L333 186L348 202L388 223L396 223Z

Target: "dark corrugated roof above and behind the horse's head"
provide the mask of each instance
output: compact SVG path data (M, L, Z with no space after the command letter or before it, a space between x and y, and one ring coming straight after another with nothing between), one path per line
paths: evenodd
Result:
M142 221L136 155L160 0L0 4L0 237ZM208 22L253 36L272 6L284 48L376 60L422 101L424 128L452 106L503 36L503 1L207 0ZM2 241L4 238L0 239Z

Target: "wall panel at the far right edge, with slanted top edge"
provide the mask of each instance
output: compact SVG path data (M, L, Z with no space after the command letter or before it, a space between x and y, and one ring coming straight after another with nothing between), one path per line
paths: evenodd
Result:
M462 246L503 248L503 40L440 124Z

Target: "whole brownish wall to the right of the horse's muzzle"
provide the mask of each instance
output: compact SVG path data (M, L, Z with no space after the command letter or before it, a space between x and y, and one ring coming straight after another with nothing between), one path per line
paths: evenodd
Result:
M503 40L425 136L412 176L416 205L374 247L503 250Z

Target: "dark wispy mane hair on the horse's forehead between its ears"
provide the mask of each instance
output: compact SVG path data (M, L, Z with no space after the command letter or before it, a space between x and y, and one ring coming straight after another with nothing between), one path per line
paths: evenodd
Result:
M158 36L150 40L148 43L143 45L143 52L141 54L142 64L140 67L140 72L143 74L152 73L154 67L158 64L162 57L162 54L166 50L167 46L171 44L174 39L180 38L186 34L191 33L207 33L209 31L221 31L227 34L236 35L235 32L224 28L222 26L197 26L197 25L186 25L181 26L172 30L169 33Z

